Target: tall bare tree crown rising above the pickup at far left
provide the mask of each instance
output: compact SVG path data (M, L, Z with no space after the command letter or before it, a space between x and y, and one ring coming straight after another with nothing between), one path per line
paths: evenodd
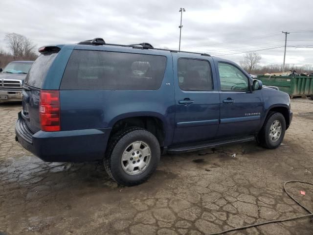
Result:
M36 46L30 39L26 38L22 34L8 33L5 35L4 40L6 41L14 58L33 57L35 54Z

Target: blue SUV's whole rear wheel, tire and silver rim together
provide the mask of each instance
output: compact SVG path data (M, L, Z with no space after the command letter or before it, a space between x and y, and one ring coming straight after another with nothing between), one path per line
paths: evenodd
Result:
M116 134L109 142L104 159L106 171L118 184L138 185L156 170L160 146L156 137L145 129L130 128Z

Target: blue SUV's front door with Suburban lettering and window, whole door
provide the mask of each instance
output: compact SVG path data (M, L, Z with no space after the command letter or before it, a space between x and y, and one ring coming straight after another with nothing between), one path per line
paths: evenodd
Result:
M252 134L258 131L263 111L261 91L252 91L251 79L235 65L218 62L221 120L218 138Z

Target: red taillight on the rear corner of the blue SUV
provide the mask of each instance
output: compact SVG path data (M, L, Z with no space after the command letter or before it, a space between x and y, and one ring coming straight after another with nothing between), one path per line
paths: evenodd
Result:
M43 131L61 130L59 91L40 92L39 115Z

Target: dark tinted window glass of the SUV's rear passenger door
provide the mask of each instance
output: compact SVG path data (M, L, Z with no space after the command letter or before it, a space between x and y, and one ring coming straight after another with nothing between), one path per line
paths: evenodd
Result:
M179 87L183 91L212 91L210 64L204 60L179 59Z

